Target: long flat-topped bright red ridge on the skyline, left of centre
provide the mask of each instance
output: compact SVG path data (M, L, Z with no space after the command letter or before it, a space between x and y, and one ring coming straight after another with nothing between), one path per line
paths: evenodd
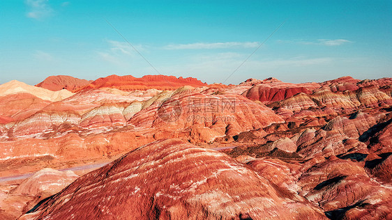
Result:
M208 84L199 81L196 78L188 77L173 77L165 75L145 75L141 78L136 78L131 75L128 76L117 76L110 75L109 77L102 77L91 82L91 84L85 86L82 89L96 89L96 88L117 88L122 91L133 91L133 90L147 90L149 88L155 88L159 90L174 90L181 86L208 86Z

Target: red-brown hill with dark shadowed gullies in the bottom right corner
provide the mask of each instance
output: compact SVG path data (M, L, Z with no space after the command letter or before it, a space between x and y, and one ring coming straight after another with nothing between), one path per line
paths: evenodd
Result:
M389 219L392 191L373 181L355 162L329 158L305 171L302 196L318 203L330 219Z

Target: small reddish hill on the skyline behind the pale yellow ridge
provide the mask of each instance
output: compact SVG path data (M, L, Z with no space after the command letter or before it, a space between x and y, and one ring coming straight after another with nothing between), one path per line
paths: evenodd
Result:
M91 81L86 79L77 79L75 77L58 75L47 77L44 81L36 84L37 87L47 88L51 91L59 91L66 89L68 91L77 91L78 89L87 86Z

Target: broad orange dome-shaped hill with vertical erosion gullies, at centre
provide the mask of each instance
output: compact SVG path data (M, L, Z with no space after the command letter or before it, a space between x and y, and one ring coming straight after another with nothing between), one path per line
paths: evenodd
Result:
M158 129L161 135L190 129L190 140L197 134L197 141L202 142L283 122L271 109L240 95L205 95L192 90L165 95L130 119L132 125Z

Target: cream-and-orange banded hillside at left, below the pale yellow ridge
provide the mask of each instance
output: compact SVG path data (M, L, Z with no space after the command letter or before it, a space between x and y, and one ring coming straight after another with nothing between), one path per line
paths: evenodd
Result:
M0 97L0 106L8 110L0 116L3 123L9 123L3 139L61 136L70 127L79 130L119 127L155 93L135 91L116 95L99 90L83 91L60 102L41 100L27 93L6 95ZM19 99L12 100L14 97Z

